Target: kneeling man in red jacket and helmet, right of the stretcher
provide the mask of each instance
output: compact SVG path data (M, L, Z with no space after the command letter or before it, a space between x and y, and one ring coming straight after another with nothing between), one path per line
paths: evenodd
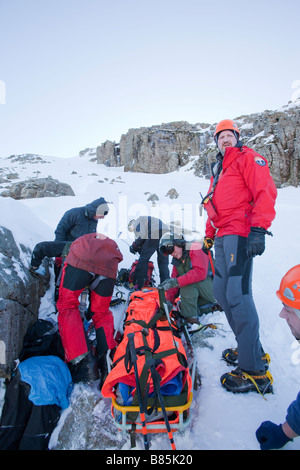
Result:
M174 303L180 289L180 313L190 322L197 321L198 307L216 303L212 292L212 272L202 244L187 243L180 235L166 233L159 243L160 252L173 256L170 279L159 288L167 290L167 300Z

